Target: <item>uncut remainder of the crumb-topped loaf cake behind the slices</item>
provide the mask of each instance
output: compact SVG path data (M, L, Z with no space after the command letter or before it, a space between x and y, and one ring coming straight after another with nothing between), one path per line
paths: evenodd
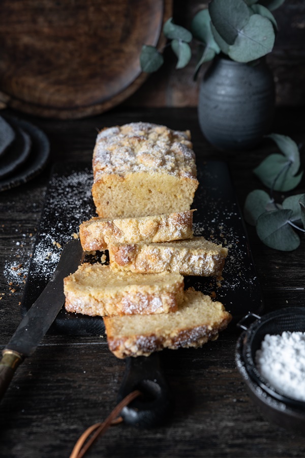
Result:
M150 123L102 130L92 195L103 218L190 210L198 187L190 132Z

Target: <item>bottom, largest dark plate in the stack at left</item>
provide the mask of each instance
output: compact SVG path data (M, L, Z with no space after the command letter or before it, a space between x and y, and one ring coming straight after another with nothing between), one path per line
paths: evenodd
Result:
M3 115L3 118L14 126L19 126L32 140L31 151L22 165L15 170L12 175L0 179L0 191L19 186L27 183L32 178L36 177L45 167L50 146L49 140L44 132L38 127L9 115Z

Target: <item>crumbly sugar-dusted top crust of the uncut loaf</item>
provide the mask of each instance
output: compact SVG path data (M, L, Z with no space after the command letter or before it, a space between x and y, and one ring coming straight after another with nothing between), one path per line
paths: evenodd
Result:
M95 181L104 174L166 173L194 179L195 155L188 132L131 123L102 130L94 150Z

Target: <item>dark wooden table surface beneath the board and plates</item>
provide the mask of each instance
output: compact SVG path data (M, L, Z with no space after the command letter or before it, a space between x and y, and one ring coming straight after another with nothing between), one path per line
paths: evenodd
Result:
M217 152L201 134L195 109L120 108L75 121L22 118L45 131L51 154L47 169L39 177L0 193L2 347L20 321L23 275L33 250L50 165L90 160L97 129L132 121L189 128L197 156L229 162L241 207L248 192L261 188L253 168L274 149L266 140L251 152ZM300 143L304 141L304 122L302 110L280 109L273 131L290 135ZM305 192L304 182L297 191ZM264 246L254 228L248 226L248 233L265 312L303 305L304 241L296 251L283 253ZM10 280L11 266L18 259L24 264L20 282ZM237 337L234 329L200 350L162 352L165 374L176 399L172 419L165 426L147 430L124 424L111 427L87 456L304 456L303 436L268 422L249 398L235 367ZM115 406L124 369L125 362L109 352L104 337L47 335L33 357L17 369L0 405L0 455L68 457L85 428L105 419Z

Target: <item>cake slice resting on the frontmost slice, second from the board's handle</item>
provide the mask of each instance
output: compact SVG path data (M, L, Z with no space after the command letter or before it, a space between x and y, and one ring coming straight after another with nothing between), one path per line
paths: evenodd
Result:
M184 278L177 273L113 272L102 264L82 264L64 279L66 310L85 315L163 313L183 300Z

